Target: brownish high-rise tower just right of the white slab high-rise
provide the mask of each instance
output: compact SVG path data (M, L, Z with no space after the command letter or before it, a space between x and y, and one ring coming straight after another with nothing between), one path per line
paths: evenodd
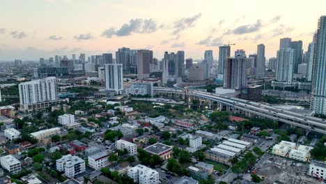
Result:
M150 77L150 62L153 60L153 51L140 49L137 52L137 74L138 79Z

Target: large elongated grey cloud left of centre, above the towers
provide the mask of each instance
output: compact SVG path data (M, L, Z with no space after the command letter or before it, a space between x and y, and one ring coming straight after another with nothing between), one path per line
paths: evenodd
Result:
M157 31L157 24L154 20L132 19L117 30L114 27L104 30L102 36L111 38L114 35L130 36L132 33L153 33L155 31Z

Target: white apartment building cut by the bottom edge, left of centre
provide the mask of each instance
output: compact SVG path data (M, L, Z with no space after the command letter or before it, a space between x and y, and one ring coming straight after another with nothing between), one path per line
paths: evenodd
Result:
M154 169L150 169L144 165L137 165L128 169L127 176L132 178L135 183L139 184L158 184L159 173Z

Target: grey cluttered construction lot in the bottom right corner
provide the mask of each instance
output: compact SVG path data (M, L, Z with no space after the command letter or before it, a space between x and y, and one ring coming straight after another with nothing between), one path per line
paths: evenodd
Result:
M263 183L320 183L316 178L307 176L309 164L265 154L255 164L253 172L264 179Z

